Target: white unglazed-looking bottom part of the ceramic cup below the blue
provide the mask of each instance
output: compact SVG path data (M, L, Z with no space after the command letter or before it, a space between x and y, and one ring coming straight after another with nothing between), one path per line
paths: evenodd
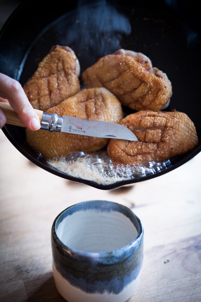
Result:
M74 287L65 278L63 278L55 268L54 263L52 263L52 271L59 294L68 302L126 302L136 291L140 282L141 274L140 272L137 278L128 284L119 294L109 294L107 292L104 292L103 294L88 294L80 290L80 288ZM68 291L66 288L68 288Z

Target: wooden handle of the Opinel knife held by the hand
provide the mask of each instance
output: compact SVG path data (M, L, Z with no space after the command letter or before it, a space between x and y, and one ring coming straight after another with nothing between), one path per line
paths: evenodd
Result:
M14 111L14 109L11 107L11 105L9 103L0 102L0 109L3 111L3 113L6 116L6 119L7 119L6 124L26 128L26 126L22 123L22 121L18 117L17 113ZM35 110L36 114L38 115L40 123L41 123L43 111L38 110L38 109L34 109L34 110Z

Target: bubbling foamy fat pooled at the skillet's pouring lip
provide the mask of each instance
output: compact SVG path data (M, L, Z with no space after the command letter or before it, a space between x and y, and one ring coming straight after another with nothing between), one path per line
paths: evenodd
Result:
M106 151L96 153L73 152L69 156L48 160L49 165L72 177L90 180L99 185L134 180L155 172L168 165L166 162L149 162L147 165L115 164Z

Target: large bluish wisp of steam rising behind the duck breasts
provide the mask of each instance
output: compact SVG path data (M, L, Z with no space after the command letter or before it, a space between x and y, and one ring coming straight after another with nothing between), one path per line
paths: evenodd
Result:
M79 2L77 9L59 18L55 27L61 45L68 45L84 62L82 69L121 48L123 35L131 33L129 20L106 1Z

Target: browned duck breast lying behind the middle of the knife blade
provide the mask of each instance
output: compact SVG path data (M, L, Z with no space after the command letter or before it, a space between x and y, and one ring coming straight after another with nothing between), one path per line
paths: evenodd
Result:
M123 118L121 103L105 88L84 89L48 109L47 113L114 123ZM109 139L106 138L71 133L51 133L47 130L30 131L26 129L26 135L29 145L47 159L66 156L73 151L98 151L109 142Z

